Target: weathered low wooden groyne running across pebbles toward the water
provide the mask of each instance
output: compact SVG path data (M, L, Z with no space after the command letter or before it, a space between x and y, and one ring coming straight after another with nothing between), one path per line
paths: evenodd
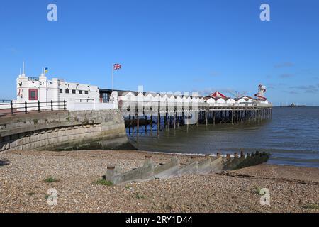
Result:
M177 159L177 155L172 155L171 162L165 164L155 163L152 161L151 155L145 156L144 165L129 170L128 172L118 173L116 166L108 165L108 170L103 179L109 184L126 184L129 182L144 182L152 179L167 179L179 177L183 175L208 175L212 173L220 173L224 170L237 170L243 167L262 164L269 159L269 153L251 153L245 155L234 153L222 157L220 153L217 155L206 155L204 160L198 161L192 158L187 164L181 165Z

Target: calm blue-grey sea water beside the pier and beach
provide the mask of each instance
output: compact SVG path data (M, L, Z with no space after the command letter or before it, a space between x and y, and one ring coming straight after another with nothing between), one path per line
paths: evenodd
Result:
M259 150L272 153L272 164L319 167L319 107L274 107L272 119L259 124L192 126L188 133L170 129L159 138L142 132L133 143L140 150L177 153Z

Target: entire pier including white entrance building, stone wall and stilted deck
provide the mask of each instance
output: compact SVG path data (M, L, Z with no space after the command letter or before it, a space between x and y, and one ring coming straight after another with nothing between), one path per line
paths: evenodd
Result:
M91 84L17 78L17 99L0 101L0 151L72 150L94 145L103 148L127 143L128 135L169 131L199 125L259 123L272 117L272 104L258 93L230 98L216 91L138 92L100 89ZM125 124L126 121L126 124ZM154 132L155 133L155 132ZM103 141L103 143L101 143Z

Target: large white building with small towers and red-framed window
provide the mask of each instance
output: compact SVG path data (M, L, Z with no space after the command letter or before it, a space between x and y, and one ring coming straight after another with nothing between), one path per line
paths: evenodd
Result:
M106 103L102 100L99 87L89 84L79 84L64 82L61 79L47 79L45 74L40 74L40 77L26 77L26 74L21 74L16 79L17 99L16 103L24 103L29 106L40 101L40 109L50 109L50 102L60 105L63 108L63 103L66 101L68 110L86 110L86 109L114 109L116 105ZM46 104L49 106L46 106ZM33 104L33 105L31 105ZM23 106L17 106L23 107ZM38 109L37 107L29 108L28 110Z

